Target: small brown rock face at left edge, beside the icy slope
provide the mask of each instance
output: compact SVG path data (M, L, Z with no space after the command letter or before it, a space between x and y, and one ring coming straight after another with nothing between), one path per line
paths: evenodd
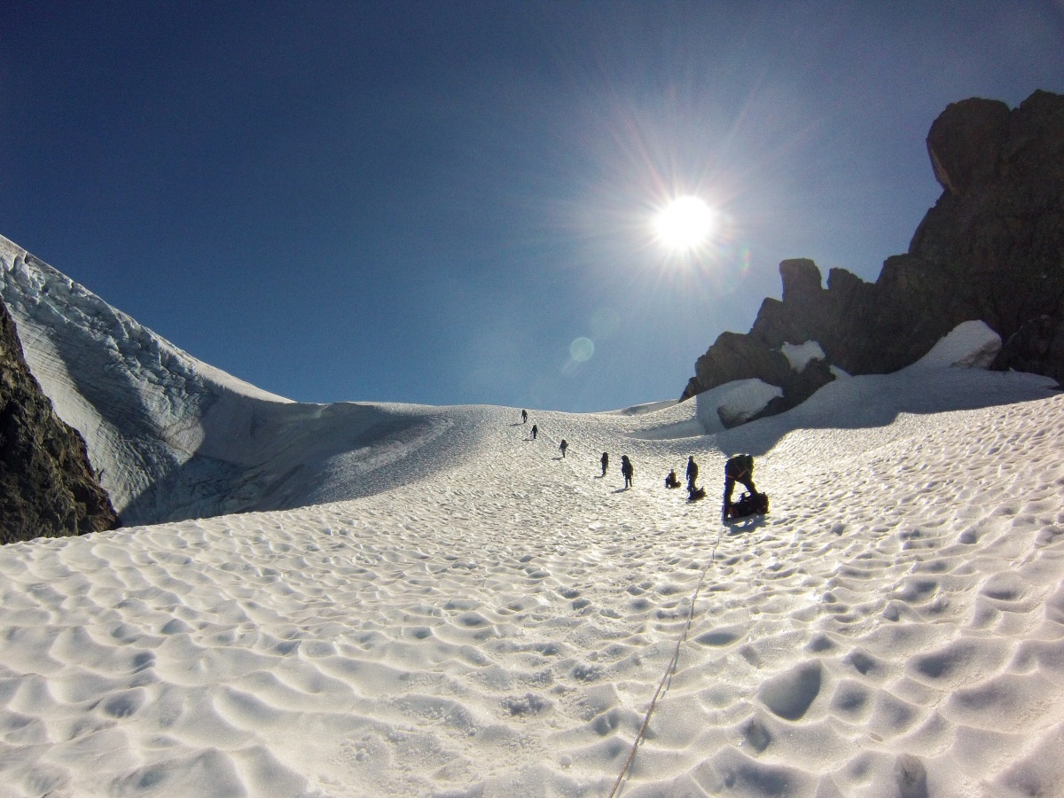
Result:
M52 412L0 302L0 544L117 526L84 439Z

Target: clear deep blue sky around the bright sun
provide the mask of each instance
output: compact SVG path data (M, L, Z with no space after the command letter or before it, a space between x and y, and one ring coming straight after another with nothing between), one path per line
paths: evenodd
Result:
M1057 0L6 0L0 34L0 233L317 402L676 398L781 260L908 249L949 102L1064 92ZM724 223L678 257L684 194Z

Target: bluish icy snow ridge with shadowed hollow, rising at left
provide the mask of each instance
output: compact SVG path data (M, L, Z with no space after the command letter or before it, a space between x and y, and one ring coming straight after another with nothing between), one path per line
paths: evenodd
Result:
M368 476L373 467L451 426L431 409L301 404L256 388L2 237L0 297L31 370L60 417L85 437L126 525L366 495L380 489ZM377 446L382 439L393 443ZM343 468L344 478L330 481L336 456L360 460L366 478ZM417 477L399 473L400 481Z

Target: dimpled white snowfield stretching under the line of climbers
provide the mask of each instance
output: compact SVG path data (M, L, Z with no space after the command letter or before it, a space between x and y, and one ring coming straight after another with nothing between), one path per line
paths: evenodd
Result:
M16 260L5 301L32 277ZM79 309L106 363L157 378L132 421L72 392L67 412L147 435L160 392L179 420L202 400L170 439L231 440L240 475L310 464L264 495L325 503L0 548L0 798L604 796L655 694L624 796L1064 794L1050 381L924 364L726 432L697 402L528 425L299 405L89 315L76 286L60 302L56 279L16 317L31 366L115 389L47 343L47 309ZM734 451L772 512L721 526ZM662 486L688 454L694 504Z

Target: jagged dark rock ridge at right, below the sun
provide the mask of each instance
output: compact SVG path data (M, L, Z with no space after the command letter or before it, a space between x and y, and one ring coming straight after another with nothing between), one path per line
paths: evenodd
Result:
M827 288L812 261L784 261L782 300L764 300L737 336L745 343L721 335L681 399L758 377L783 388L771 406L782 412L833 379L830 365L896 371L971 319L1004 342L994 368L1064 380L1064 96L1035 92L1012 111L996 100L952 103L927 145L944 192L909 252L888 257L875 283L832 269ZM770 354L807 340L827 362L788 390Z

